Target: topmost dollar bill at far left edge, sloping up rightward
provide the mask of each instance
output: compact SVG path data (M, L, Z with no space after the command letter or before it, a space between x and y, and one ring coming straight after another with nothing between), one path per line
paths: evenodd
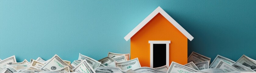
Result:
M11 62L13 63L16 62L15 55L0 61L0 68L4 67L7 63L11 63Z

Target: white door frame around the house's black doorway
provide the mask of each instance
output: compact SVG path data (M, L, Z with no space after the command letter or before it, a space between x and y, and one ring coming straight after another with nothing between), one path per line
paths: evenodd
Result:
M169 68L169 44L171 43L170 40L168 41L149 41L150 43L150 68L153 68L153 44L166 44L166 65Z

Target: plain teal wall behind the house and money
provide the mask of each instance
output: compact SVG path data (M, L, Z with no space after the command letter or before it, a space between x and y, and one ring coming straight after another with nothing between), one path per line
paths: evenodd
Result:
M195 51L212 60L256 59L255 0L1 0L0 58L20 62L58 54L99 60L108 52L130 53L126 36L160 6L194 39Z

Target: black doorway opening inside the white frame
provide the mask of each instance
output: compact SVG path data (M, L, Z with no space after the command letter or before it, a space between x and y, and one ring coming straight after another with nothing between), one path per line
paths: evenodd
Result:
M166 65L166 44L153 44L153 68Z

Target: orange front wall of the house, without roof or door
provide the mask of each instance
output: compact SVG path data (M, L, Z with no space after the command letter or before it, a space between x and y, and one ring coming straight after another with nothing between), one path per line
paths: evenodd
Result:
M131 38L131 59L139 58L142 67L150 67L149 40L170 40L170 62L187 63L187 38L158 13Z

